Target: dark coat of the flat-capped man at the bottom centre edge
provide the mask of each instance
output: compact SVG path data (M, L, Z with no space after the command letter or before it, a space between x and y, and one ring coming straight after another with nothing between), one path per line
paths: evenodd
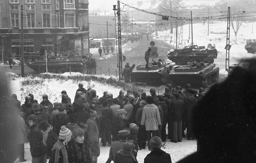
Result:
M117 152L114 163L136 163L136 160L130 151L121 149Z

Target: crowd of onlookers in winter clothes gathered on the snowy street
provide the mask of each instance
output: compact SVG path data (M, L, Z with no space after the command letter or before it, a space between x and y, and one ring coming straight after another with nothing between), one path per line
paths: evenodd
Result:
M126 163L138 162L138 150L146 149L146 141L152 152L145 161L154 162L157 155L171 161L170 155L160 149L167 138L181 142L187 128L187 139L195 139L191 113L204 95L203 88L198 94L190 84L184 91L168 84L163 95L156 95L154 88L150 95L128 89L113 98L107 91L99 97L95 89L86 90L82 83L78 87L73 103L65 90L61 92L61 103L53 104L47 94L42 95L41 102L29 94L22 105L17 95L12 95L20 108L20 162L26 161L27 141L32 163L45 163L47 158L50 163L96 163L100 156L99 138L103 147L110 146L108 163Z

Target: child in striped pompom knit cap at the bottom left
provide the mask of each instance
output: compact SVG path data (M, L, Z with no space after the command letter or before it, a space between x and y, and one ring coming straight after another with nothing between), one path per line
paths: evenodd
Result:
M72 132L65 126L61 127L58 141L52 147L49 163L68 163L66 143L70 141Z

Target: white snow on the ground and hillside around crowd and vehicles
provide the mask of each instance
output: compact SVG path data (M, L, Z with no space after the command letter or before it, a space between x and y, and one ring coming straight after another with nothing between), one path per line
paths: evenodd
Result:
M207 36L207 24L193 24L193 41L194 44L199 46L207 46L208 43L213 43L218 50L218 58L215 60L216 66L220 67L220 74L226 75L227 72L225 70L225 58L226 58L226 50L224 47L226 46L226 22L216 22L214 24L210 24L210 32L209 36ZM237 36L237 44L235 44L235 36L232 28L230 29L230 45L232 45L230 49L230 65L237 63L238 60L245 57L253 57L256 54L248 54L244 49L246 45L246 39L256 39L256 33L252 33L252 25L251 24L243 24L238 32ZM189 26L183 26L183 38L188 39L188 29ZM154 39L164 40L166 36L173 36L173 34L169 33L170 31L158 32L158 38L154 37ZM153 34L154 35L154 34ZM168 41L167 41L168 42ZM191 40L190 40L191 42ZM181 46L181 45L180 45ZM184 46L184 44L183 44ZM94 53L97 49L95 49ZM128 49L130 50L130 49ZM92 52L93 53L93 52ZM94 56L96 58L97 56ZM64 73L63 75L67 76L69 73ZM77 73L72 73L71 75L77 75ZM81 74L82 75L82 74ZM30 77L27 77L30 78ZM109 76L106 76L109 78ZM61 81L61 80L45 80L42 85L31 85L30 87L21 86L21 81L24 80L22 78L14 78L14 80L10 81L11 85L11 93L16 93L18 99L24 103L24 96L29 93L34 94L34 99L37 99L39 102L42 101L42 94L48 94L49 100L53 103L56 101L60 101L62 90L66 90L67 94L71 98L72 102L74 99L74 95L76 93L76 89L78 89L78 83L74 83L71 80ZM34 79L35 80L35 79ZM113 94L114 97L118 96L120 88L112 87L111 85L104 85L102 83L98 83L95 81L82 81L84 87L87 89L88 87L92 87L96 90L97 94L101 97L104 91L109 91ZM149 94L148 91L146 91ZM110 147L102 147L100 143L100 157L98 158L98 163L105 163L108 159ZM170 153L172 157L172 162L175 163L181 158L185 157L196 151L196 141L188 141L183 139L180 143L171 143L168 139L166 143L166 148L164 149L167 153ZM150 153L148 149L138 151L138 161L139 163L143 162L144 157ZM27 159L27 163L31 162L31 155L29 151L29 143L25 144L25 159Z

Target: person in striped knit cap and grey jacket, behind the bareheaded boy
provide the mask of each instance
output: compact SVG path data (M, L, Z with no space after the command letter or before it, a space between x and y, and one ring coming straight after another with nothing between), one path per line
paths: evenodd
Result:
M96 125L95 119L97 112L93 109L90 110L90 118L87 119L86 124L88 125L89 142L90 142L90 156L92 163L97 163L97 159L100 155L99 147L99 131Z

